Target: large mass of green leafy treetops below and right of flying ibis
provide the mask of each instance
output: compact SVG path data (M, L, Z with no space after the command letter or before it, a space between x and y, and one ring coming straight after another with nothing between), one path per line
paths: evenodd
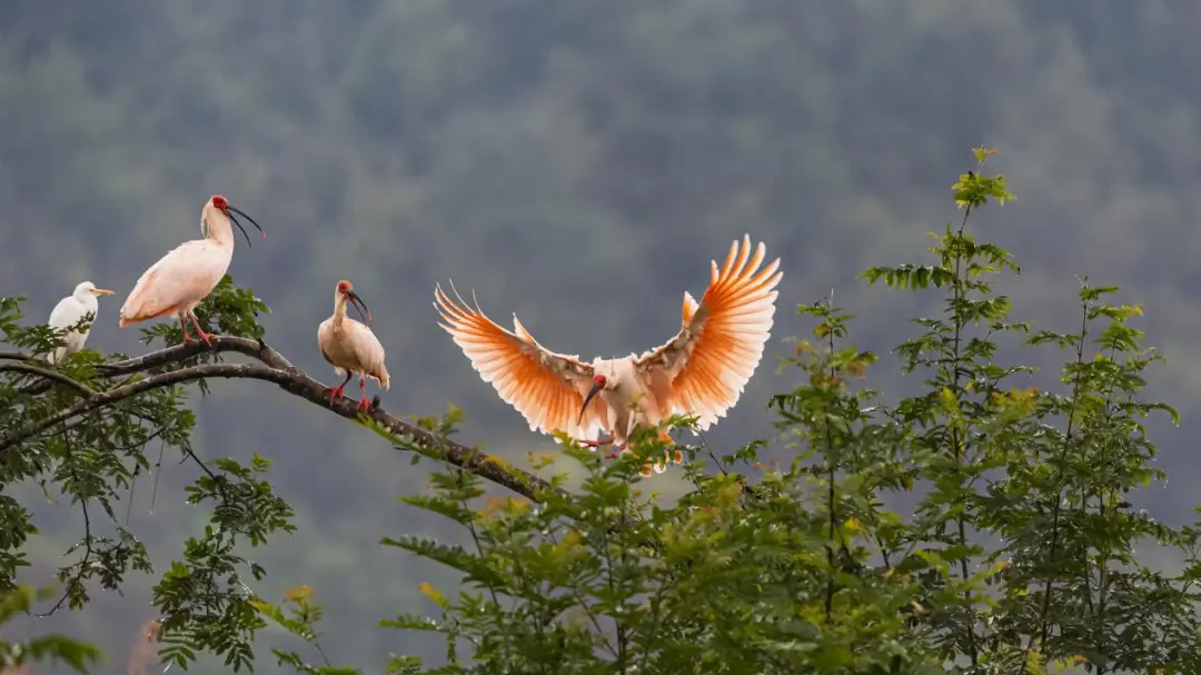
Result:
M770 404L785 466L759 464L758 442L723 458L686 447L694 489L668 504L639 489L637 466L664 450L653 432L610 465L564 443L582 485L540 503L435 472L432 494L404 501L461 524L474 550L383 539L464 583L454 595L420 587L435 617L382 622L440 633L446 663L393 657L388 670L1201 669L1199 528L1166 527L1127 502L1161 478L1142 419L1176 419L1142 398L1142 374L1159 357L1130 325L1141 310L1107 304L1115 288L1081 280L1076 329L1010 319L991 280L1020 269L966 226L973 210L1012 195L1003 177L982 174L993 151L975 153L978 167L954 186L963 220L933 235L934 261L865 274L944 294L942 315L918 319L920 334L897 348L903 370L922 376L921 393L890 405L853 386L878 357L848 342L853 317L826 300L799 307L815 319L813 341L785 359L801 382ZM1014 386L1036 369L998 363L998 351L1044 345L1068 353L1059 383ZM906 500L912 514L885 506ZM1182 550L1184 571L1140 563L1136 549L1153 545Z

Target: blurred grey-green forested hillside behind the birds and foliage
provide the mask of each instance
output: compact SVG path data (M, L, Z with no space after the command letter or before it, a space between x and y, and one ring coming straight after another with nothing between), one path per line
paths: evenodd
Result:
M785 273L773 340L706 435L733 448L771 434L766 400L791 387L775 374L781 340L808 328L793 310L831 287L860 316L853 339L885 354L873 384L904 390L888 352L910 335L904 318L938 305L856 276L921 261L924 234L961 216L950 185L969 148L997 148L991 171L1018 201L973 229L1023 267L1005 288L1014 317L1070 329L1074 274L1143 303L1141 327L1172 362L1153 394L1184 423L1154 426L1173 482L1137 506L1182 522L1201 501L1195 2L7 0L0 65L0 294L25 294L28 322L86 279L116 291L89 346L143 351L136 329L116 328L121 300L199 235L201 207L222 193L269 233L239 244L231 268L271 307L269 344L333 382L316 329L351 279L388 348L384 407L438 414L454 401L467 412L460 441L519 465L555 446L437 327L436 281L476 288L492 318L515 311L549 348L591 359L659 345L711 258L743 232L766 241ZM377 544L460 538L396 502L423 490L425 464L263 383L215 382L196 405L198 454L267 455L298 512L297 534L257 552L269 575L255 590L276 599L312 585L336 662L436 656L441 644L375 627L430 609L418 583L453 579ZM153 513L149 479L132 509L160 572L204 515L183 506L193 468L177 459ZM650 486L671 494L679 480L669 471ZM25 579L38 584L82 528L74 510L42 503L41 565ZM23 629L91 640L123 671L154 616L151 584L97 589L84 611ZM277 639L264 632L264 645ZM276 671L263 647L258 662Z

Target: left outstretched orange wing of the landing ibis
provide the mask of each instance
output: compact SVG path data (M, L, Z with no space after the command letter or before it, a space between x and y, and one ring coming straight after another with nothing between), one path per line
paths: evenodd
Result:
M454 285L452 285L454 291ZM592 366L579 357L556 354L538 344L513 315L516 333L509 333L455 291L458 303L441 286L434 291L434 306L446 323L438 322L471 359L472 368L490 383L507 404L530 423L530 429L550 434L566 431L576 440L593 440L605 426L604 401L593 399L579 423L584 396L592 387Z

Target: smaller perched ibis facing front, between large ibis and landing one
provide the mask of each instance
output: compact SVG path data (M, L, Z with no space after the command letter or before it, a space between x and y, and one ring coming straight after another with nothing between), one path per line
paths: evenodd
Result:
M328 389L329 405L342 398L342 389L351 377L358 375L362 395L358 410L368 410L371 402L368 401L366 378L375 380L382 389L388 389L390 378L383 364L383 345L366 324L346 316L347 303L354 305L364 321L371 321L371 310L354 292L354 285L346 280L339 281L334 287L334 315L317 327L317 345L321 347L321 356L334 366L334 372L346 375L341 384Z

